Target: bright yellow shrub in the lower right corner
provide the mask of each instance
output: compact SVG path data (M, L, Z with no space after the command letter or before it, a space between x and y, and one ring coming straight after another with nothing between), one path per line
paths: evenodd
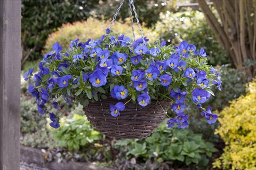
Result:
M231 102L220 112L221 126L215 131L227 144L214 167L256 169L256 79L247 87L246 96Z

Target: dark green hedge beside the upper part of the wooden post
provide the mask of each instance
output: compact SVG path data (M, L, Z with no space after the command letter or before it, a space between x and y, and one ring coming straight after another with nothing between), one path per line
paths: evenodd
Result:
M23 56L41 57L47 36L63 23L84 20L89 17L98 0L22 0ZM82 8L81 8L82 7Z

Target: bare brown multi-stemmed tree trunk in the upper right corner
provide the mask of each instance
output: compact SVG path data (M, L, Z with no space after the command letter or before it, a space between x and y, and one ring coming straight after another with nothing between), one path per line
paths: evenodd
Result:
M256 0L212 0L220 21L205 0L197 1L234 66L255 76Z

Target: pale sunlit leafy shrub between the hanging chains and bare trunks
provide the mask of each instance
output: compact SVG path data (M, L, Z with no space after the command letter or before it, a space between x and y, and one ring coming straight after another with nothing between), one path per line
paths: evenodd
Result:
M203 47L213 66L228 62L227 53L206 22L204 14L186 9L183 12L161 13L161 20L156 23L159 38L169 43L179 44L182 40Z

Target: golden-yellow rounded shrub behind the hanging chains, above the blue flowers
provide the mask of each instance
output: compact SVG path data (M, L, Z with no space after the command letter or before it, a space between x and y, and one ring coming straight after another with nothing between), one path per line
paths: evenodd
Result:
M130 22L130 19L127 19L125 23L116 21L111 27L112 33L116 36L124 34L132 37L132 27ZM78 21L73 24L67 23L58 28L58 31L47 38L45 51L51 51L52 45L56 42L60 43L64 50L67 50L70 41L73 39L79 38L82 42L85 42L89 38L98 39L105 34L105 30L109 26L109 23L109 21L100 21L94 18L89 18L82 22ZM134 23L134 25L136 24ZM142 28L142 30L143 35L147 36L151 42L154 42L158 37L151 29ZM137 26L135 26L135 31L137 33L135 34L136 38L139 38L140 33Z

